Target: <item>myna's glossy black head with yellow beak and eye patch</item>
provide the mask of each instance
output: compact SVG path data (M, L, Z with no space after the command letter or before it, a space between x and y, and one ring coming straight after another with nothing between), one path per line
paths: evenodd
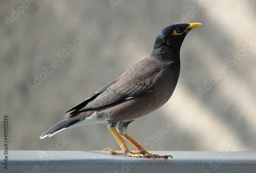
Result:
M162 29L157 35L152 53L161 54L162 52L166 54L169 52L179 55L181 44L187 33L200 25L202 24L175 24Z

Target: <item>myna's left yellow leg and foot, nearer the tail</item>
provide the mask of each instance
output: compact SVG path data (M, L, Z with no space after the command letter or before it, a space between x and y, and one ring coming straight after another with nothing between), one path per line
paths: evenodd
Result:
M118 132L116 131L115 128L112 128L110 125L108 125L108 128L109 128L110 132L113 134L113 136L116 138L116 140L122 150L114 150L111 148L105 148L102 150L102 152L104 150L109 150L110 154L112 154L112 155L127 155L130 157L143 157L143 155L139 154L139 152L131 152L128 149L128 147L126 146L126 144L124 143L124 141L122 140L121 136L118 134Z

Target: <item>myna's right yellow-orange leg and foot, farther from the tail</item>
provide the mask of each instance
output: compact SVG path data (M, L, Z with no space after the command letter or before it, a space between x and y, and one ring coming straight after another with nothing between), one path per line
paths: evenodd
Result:
M138 149L139 153L138 154L141 154L143 157L147 157L147 158L150 158L150 157L153 157L153 158L165 158L165 159L168 159L168 157L171 157L173 158L172 156L170 155L158 155L158 154L152 154L150 152L147 152L143 146L141 146L138 142L136 142L132 137L130 137L129 135L127 134L121 134L120 135L126 139L127 141L129 141L136 149Z

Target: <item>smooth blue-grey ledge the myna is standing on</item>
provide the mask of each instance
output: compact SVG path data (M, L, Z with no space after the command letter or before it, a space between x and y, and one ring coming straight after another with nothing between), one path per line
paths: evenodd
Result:
M152 152L174 159L130 158L100 151L9 150L0 172L256 172L256 152ZM0 151L1 160L5 159Z

